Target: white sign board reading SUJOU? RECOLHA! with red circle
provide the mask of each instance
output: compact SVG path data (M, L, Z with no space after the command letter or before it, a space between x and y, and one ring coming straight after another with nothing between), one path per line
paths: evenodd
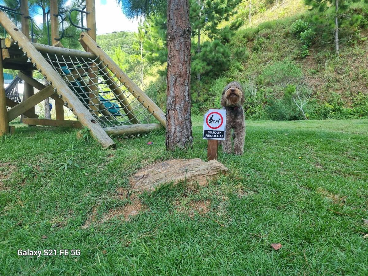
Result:
M226 109L210 109L203 117L203 139L225 140Z

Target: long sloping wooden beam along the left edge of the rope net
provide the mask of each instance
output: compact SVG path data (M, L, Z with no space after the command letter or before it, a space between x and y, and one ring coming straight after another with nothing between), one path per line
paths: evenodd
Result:
M27 52L27 56L32 57L32 62L35 62L37 68L41 69L42 73L46 75L47 80L52 82L52 85L57 89L57 93L63 95L63 100L72 108L72 112L78 116L78 120L81 124L90 129L92 137L94 137L104 148L115 146L114 141L106 134L78 97L70 90L65 81L18 30L17 26L14 25L3 11L0 11L0 24L3 25L13 39L18 41L18 44ZM65 50L65 48L53 48Z

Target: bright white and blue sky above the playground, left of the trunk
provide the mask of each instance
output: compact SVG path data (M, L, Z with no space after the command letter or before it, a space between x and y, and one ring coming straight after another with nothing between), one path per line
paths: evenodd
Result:
M137 28L137 20L128 20L115 0L95 0L95 3L97 34ZM37 24L42 24L42 15L36 15L34 19Z

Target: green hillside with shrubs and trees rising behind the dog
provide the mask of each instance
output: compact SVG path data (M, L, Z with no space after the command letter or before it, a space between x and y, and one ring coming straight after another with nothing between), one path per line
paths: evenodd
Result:
M251 5L249 22L249 2L241 3L220 14L225 20L209 31L208 24L202 25L201 55L196 51L197 23L192 21L192 112L201 114L219 106L223 87L236 80L244 86L248 120L303 119L296 103L304 103L308 119L367 117L368 6L359 1L344 11L351 22L341 19L339 54L334 50L333 26L316 21L316 17L331 17L333 10L318 14L308 8L303 0L278 1L278 5L257 1ZM198 12L192 9L193 14ZM233 26L236 20L243 22L240 28ZM162 22L164 17L158 16L147 24ZM237 30L228 33L229 28ZM166 26L141 32L142 60L140 34L100 35L98 42L164 109ZM144 79L139 77L142 70Z

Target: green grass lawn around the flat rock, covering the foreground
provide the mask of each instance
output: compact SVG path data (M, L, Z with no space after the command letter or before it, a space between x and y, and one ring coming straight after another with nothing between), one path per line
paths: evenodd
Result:
M193 126L193 149L174 153L163 131L115 139L116 150L76 130L2 138L0 275L368 274L368 120L250 121L244 156L220 153L230 173L207 187L116 192L156 160L205 159L201 118ZM145 211L130 221L82 227L137 200Z

